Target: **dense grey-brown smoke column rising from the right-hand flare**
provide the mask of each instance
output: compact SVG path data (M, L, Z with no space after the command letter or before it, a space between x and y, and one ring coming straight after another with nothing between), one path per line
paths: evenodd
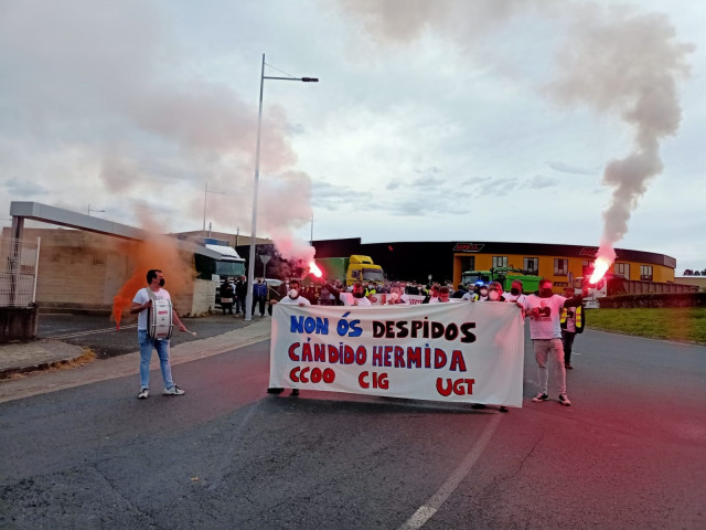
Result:
M558 53L559 75L549 88L566 104L616 113L633 132L634 150L610 161L603 183L613 189L603 212L598 255L614 259L612 246L628 232L632 211L650 180L662 172L660 142L682 119L677 82L688 74L689 45L675 41L666 15L587 4L569 29L570 46Z

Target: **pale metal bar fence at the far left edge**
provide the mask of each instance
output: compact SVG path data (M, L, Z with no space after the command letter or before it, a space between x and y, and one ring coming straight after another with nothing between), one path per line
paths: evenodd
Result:
M40 239L0 239L0 307L28 307L36 294Z

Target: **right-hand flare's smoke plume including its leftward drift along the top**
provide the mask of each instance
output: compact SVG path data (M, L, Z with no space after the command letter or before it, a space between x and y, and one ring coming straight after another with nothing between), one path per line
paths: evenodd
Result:
M477 45L479 40L492 41L496 34L512 38L502 31L511 23L515 30L532 31L528 19L522 25L528 14L552 24L545 39L556 59L555 74L541 83L542 93L557 105L587 106L617 116L634 138L633 151L609 161L603 174L603 183L613 192L603 212L599 255L610 256L612 263L613 244L628 232L650 180L662 172L660 142L677 131L682 118L677 85L688 75L692 46L677 42L665 14L578 1L341 0L341 4L382 43L400 45L432 33L454 41L473 61L490 66L496 61L499 71L512 61L488 53Z

